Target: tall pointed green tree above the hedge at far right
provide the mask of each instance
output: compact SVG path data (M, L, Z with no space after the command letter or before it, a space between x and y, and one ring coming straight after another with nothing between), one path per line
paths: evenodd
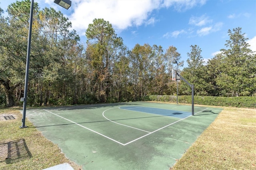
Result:
M256 55L246 42L242 28L228 30L230 40L226 41L228 49L221 49L221 73L216 78L217 85L232 96L252 95L256 90Z

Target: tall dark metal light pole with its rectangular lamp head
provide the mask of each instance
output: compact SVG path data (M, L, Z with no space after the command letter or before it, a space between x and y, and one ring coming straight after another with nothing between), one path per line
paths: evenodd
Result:
M63 8L66 8L66 9L68 9L71 6L71 1L70 0L54 0L54 3L62 6ZM28 48L27 48L24 97L22 97L22 99L21 99L21 101L24 101L24 103L23 103L23 111L22 111L22 126L20 126L20 128L27 127L25 125L25 119L26 119L26 106L27 106L27 95L28 95L28 71L29 71L29 60L30 60L30 46L31 46L33 10L34 10L34 0L31 0L30 16L29 16L29 28L28 28Z

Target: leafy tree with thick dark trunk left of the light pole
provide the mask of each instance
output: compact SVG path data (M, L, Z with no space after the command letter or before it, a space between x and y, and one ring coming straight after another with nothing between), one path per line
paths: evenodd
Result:
M34 5L36 11L38 5ZM24 81L30 13L28 6L28 0L12 3L8 6L10 18L0 14L0 84L6 93L6 106L14 105L13 91Z

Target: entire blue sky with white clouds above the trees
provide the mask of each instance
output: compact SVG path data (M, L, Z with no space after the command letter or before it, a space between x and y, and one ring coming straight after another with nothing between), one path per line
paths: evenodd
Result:
M109 21L124 44L174 46L187 67L190 45L202 49L207 61L226 48L228 29L242 28L256 51L256 0L72 0L66 10L54 0L34 0L40 6L60 10L72 29L86 42L85 32L94 18ZM16 0L0 0L3 10Z

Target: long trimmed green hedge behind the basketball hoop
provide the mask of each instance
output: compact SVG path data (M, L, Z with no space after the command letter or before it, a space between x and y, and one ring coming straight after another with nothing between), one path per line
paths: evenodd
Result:
M145 101L177 102L177 96L173 95L149 95ZM178 96L179 103L192 103L191 96ZM228 106L256 108L256 97L214 97L214 96L194 96L194 104L208 106Z

